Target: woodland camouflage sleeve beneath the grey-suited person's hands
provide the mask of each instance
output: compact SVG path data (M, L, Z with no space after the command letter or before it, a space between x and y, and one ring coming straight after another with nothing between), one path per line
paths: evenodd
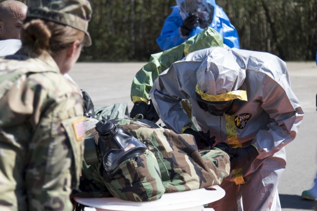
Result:
M217 148L199 152L192 135L144 127L134 121L120 127L147 143L157 158L165 193L219 185L229 175L229 156Z

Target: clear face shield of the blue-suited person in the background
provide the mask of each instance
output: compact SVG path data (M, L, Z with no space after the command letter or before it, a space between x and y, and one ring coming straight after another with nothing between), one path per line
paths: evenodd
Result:
M199 17L200 28L204 29L211 24L214 7L208 0L176 0L176 2L183 20L189 14L194 14Z

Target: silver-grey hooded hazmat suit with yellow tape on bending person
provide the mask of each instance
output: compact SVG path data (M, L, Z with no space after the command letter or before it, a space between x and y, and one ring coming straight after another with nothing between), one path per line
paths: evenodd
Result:
M217 98L238 90L247 99L232 116L212 116L197 103L195 87ZM280 210L277 184L286 166L284 146L291 142L303 119L303 110L290 86L286 64L264 52L211 47L188 54L159 75L150 97L164 124L175 132L190 126L179 101L189 99L198 130L217 142L247 147L259 155L235 169L220 186L223 199L212 203L217 211ZM239 174L241 179L239 178ZM223 203L225 202L225 203Z

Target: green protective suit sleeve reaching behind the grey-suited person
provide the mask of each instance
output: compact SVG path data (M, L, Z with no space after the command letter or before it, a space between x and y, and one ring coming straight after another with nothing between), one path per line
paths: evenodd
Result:
M224 45L222 36L208 27L178 46L152 54L149 63L144 65L133 78L131 100L134 103L137 101L147 102L153 82L160 73L169 68L172 63L181 60L188 53L211 46L223 47Z

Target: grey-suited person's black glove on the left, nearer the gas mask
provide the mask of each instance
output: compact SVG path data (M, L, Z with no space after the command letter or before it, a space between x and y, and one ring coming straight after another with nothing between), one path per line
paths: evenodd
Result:
M210 137L210 132L207 133L203 131L196 131L192 128L187 128L183 133L191 134L194 136L198 149L205 149L207 147L212 147L215 142L215 137Z

